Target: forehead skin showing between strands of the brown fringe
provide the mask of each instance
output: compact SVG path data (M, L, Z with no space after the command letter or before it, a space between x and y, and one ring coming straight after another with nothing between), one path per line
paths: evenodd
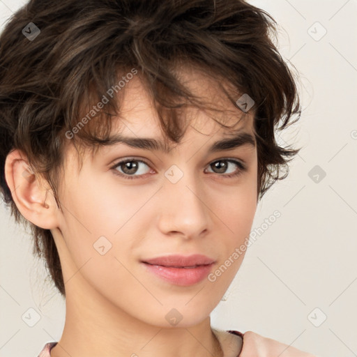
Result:
M207 103L204 108L187 105L183 109L177 110L176 115L178 115L181 124L190 124L192 128L203 135L220 133L224 135L241 129L253 130L255 114L253 109L244 113L227 98L221 86L228 91L231 98L238 99L241 96L227 80L219 82L219 79L192 67L176 70L176 75L195 96ZM229 128L221 126L216 121ZM153 98L146 91L139 76L134 77L126 84L121 100L120 115L113 118L112 133L118 132L126 136L155 136L165 139L165 135L162 135Z

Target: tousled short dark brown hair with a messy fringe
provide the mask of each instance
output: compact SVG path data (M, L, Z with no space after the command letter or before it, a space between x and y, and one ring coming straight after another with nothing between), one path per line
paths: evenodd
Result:
M30 22L40 29L36 38L23 32L30 28L27 33L36 33ZM50 184L61 207L57 189L68 130L78 128L85 113L105 96L105 110L92 113L91 122L75 130L72 141L89 149L105 145L112 115L120 112L123 91L117 78L136 70L154 99L165 137L179 142L184 134L182 107L190 103L206 108L172 70L190 63L228 81L235 92L220 88L232 102L243 93L255 101L261 198L287 176L287 162L299 151L275 141L275 130L295 122L294 115L297 121L301 107L294 77L271 34L276 35L271 15L243 0L31 0L9 20L0 36L1 193L16 222L30 225L33 253L45 257L63 296L50 230L24 219L6 183L8 153L26 153L31 169ZM118 96L109 96L110 88Z

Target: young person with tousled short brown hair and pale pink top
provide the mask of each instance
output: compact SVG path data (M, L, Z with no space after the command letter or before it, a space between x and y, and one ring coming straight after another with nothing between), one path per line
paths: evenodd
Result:
M210 314L301 114L243 0L31 0L0 38L1 192L59 293L40 357L308 357ZM280 171L279 171L280 169Z

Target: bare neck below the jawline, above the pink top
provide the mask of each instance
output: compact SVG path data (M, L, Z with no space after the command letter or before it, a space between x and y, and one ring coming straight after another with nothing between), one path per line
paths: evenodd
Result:
M75 291L69 285L66 323L51 357L223 357L209 316L194 326L153 326L128 315L96 291L81 294L77 284Z

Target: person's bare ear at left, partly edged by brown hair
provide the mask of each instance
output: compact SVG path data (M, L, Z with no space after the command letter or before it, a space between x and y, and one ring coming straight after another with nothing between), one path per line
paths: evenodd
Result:
M39 181L40 178L33 174L23 151L15 149L6 157L5 179L18 210L26 220L43 229L58 227L59 208L52 189L47 181Z

